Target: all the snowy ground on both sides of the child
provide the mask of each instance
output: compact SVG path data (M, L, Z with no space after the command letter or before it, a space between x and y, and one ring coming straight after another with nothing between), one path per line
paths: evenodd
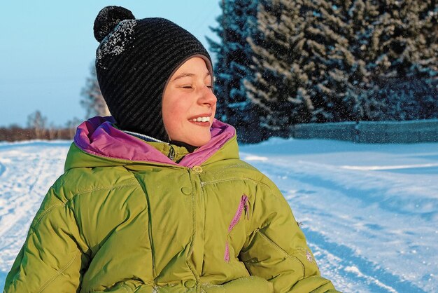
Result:
M0 143L0 289L68 142ZM438 292L438 143L271 139L241 157L276 182L342 292Z

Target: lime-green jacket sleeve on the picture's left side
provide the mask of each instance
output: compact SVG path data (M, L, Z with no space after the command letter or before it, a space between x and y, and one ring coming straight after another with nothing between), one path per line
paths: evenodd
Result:
M77 292L87 256L70 200L45 196L6 277L3 293Z

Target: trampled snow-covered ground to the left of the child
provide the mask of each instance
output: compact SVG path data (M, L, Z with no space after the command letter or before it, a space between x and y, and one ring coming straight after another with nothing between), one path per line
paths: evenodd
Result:
M64 172L67 142L0 143L0 289L48 188Z

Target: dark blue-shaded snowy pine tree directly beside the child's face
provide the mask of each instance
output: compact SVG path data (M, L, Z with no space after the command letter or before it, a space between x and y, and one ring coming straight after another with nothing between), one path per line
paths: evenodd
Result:
M207 38L216 53L215 93L218 97L216 117L237 130L241 142L258 142L265 138L263 132L255 132L261 109L248 100L243 80L252 64L248 41L250 26L255 23L257 1L222 0L222 15L218 27L211 28L220 41Z

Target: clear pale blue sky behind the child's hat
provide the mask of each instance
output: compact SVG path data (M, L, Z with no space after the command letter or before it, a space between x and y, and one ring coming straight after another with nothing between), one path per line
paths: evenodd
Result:
M128 8L136 18L162 17L188 29L204 43L217 39L219 0L190 1L2 1L0 5L0 126L25 126L40 110L64 125L85 118L80 90L98 46L93 22L101 8Z

